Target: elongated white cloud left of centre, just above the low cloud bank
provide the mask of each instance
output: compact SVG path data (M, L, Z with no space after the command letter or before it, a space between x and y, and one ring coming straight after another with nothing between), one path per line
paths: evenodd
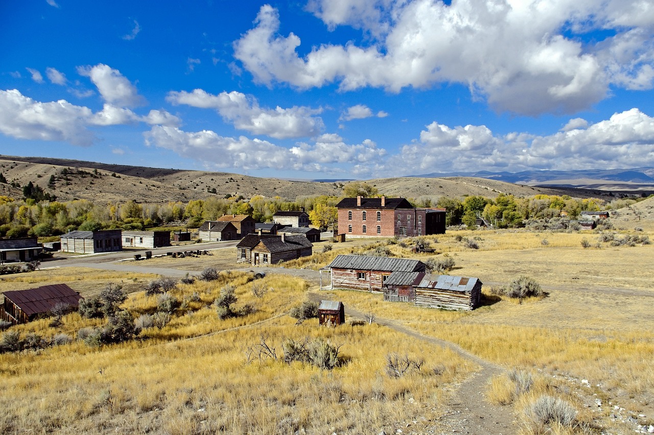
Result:
M239 130L276 139L315 136L324 128L322 118L314 116L321 109L308 107L275 107L264 109L256 98L241 92L221 92L213 95L201 89L193 92L169 92L166 101L201 109L215 109L224 120Z

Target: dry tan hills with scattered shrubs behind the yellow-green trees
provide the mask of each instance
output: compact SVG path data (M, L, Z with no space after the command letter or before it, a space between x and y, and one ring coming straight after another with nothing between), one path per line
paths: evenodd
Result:
M68 172L63 175L62 172ZM294 200L298 196L340 196L338 183L262 179L224 172L186 171L141 166L110 165L54 158L0 156L0 173L7 182L21 186L32 181L60 200L87 199L91 201L128 201L162 203L190 201L226 195L252 198L280 196ZM112 176L112 175L116 176ZM56 177L54 186L50 177ZM521 186L487 179L454 177L420 179L413 177L372 179L381 194L419 198L421 196L481 195L494 198L500 192L515 196L536 194L568 194L579 198L610 198L599 191L570 191L555 188ZM0 194L20 198L20 189L1 185ZM213 189L216 193L213 194Z

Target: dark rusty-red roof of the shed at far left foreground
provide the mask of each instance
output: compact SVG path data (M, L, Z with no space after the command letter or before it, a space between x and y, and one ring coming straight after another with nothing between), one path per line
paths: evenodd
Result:
M51 311L57 304L78 305L82 299L65 284L44 285L29 290L10 290L5 298L16 304L27 316Z

